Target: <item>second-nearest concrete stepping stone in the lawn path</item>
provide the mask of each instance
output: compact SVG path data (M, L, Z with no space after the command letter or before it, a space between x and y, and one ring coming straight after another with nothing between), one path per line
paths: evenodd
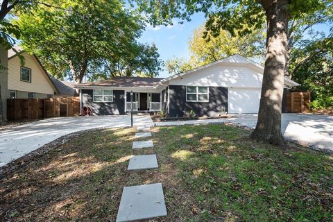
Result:
M128 171L135 171L140 169L156 169L158 168L157 157L152 155L135 155L130 158L128 164Z

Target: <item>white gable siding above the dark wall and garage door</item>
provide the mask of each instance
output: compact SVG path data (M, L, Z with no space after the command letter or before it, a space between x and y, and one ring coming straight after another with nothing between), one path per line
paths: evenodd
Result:
M262 75L252 65L221 62L169 80L170 85L214 87L262 87Z

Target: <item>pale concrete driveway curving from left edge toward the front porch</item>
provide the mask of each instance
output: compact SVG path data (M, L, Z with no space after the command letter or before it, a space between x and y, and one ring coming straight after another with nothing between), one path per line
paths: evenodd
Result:
M152 124L149 116L134 116L133 124ZM130 116L62 117L43 119L0 132L0 167L63 135L92 128L130 126Z

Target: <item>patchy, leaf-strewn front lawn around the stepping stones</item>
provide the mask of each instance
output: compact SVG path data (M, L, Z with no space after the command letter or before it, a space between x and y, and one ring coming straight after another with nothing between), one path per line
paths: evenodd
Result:
M333 157L248 139L234 126L152 128L159 169L126 171L135 130L94 130L16 161L0 180L0 220L115 221L125 186L162 182L153 221L332 221ZM145 139L140 139L145 140Z

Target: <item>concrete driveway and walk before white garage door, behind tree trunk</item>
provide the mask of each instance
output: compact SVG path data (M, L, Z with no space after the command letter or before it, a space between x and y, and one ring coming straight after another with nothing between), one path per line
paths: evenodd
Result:
M161 122L156 126L171 126L196 123L239 123L255 128L257 114L239 114L232 119L205 119ZM333 117L314 114L282 114L282 133L291 139L314 148L333 152Z

